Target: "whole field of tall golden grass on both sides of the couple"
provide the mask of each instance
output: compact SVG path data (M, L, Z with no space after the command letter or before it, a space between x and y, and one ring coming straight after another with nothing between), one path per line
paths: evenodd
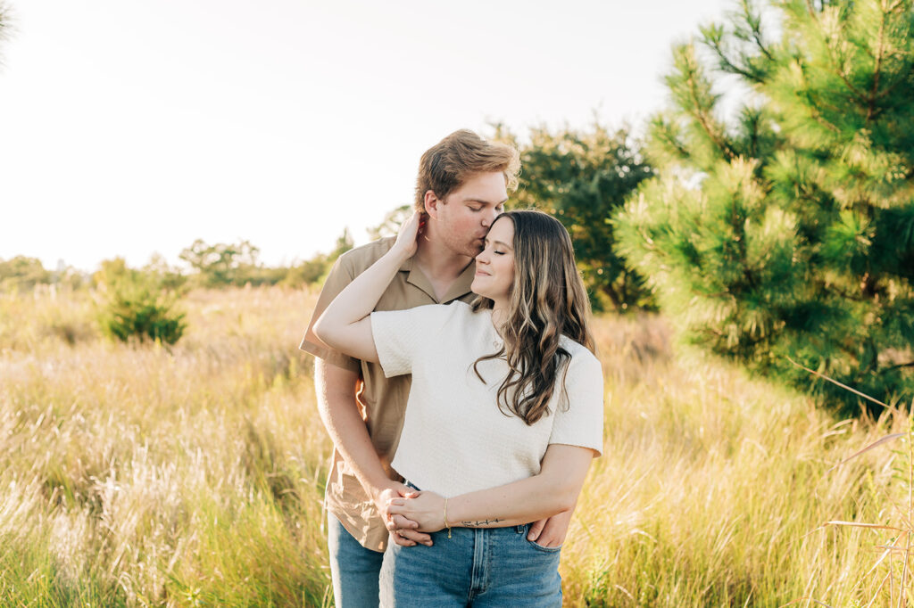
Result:
M0 605L331 605L330 443L297 350L315 297L193 291L168 349L103 339L89 291L0 294ZM907 438L830 470L906 415L837 419L656 318L595 327L605 455L562 551L568 605L910 599Z

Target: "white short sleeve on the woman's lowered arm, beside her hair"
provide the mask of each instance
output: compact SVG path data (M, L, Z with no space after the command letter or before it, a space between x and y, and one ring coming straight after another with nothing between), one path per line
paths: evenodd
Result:
M561 375L558 376L561 381ZM557 387L561 390L560 385ZM575 353L565 376L568 394L559 393L550 444L590 447L603 453L603 371L590 351Z

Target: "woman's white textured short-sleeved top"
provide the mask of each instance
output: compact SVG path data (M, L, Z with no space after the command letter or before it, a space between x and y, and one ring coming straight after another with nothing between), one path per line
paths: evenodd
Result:
M505 360L479 364L485 383L473 372L473 362L502 345L490 310L474 313L458 301L373 312L371 329L385 375L412 373L392 465L420 489L452 497L533 477L549 444L602 452L602 370L579 343L562 338L571 360L567 375L559 368L557 383L565 375L566 391L559 384L550 414L526 425L495 401Z

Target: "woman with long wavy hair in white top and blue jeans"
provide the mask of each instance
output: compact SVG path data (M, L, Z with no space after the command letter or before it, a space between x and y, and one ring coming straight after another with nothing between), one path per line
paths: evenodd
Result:
M549 215L499 215L476 257L472 306L372 312L416 250L420 217L324 311L338 351L412 373L392 466L417 493L388 506L431 532L391 543L390 605L560 606L558 551L526 525L574 507L602 446L602 374L568 232Z

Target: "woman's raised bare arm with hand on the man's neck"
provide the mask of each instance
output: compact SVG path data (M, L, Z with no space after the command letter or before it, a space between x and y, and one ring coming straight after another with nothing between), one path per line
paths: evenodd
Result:
M414 213L402 226L394 246L377 262L354 278L314 323L314 335L327 346L362 361L377 362L371 320L384 290L399 267L416 253L420 214Z

